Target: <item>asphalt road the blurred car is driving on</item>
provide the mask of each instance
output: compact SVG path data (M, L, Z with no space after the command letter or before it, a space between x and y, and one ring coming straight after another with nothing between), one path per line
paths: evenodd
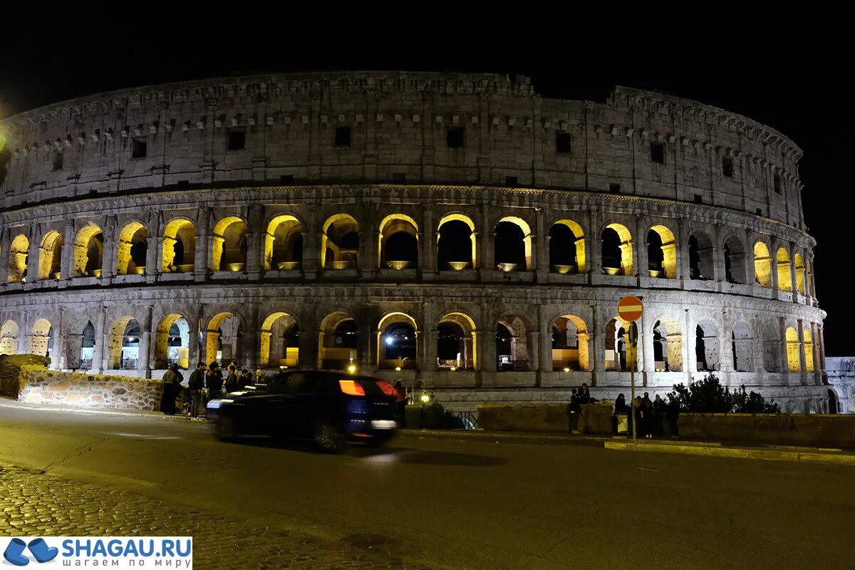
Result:
M195 508L187 516L222 532L239 523L374 549L394 555L390 567L855 565L852 467L415 436L322 455L223 444L186 419L3 407L0 467L12 465L155 501L163 516Z

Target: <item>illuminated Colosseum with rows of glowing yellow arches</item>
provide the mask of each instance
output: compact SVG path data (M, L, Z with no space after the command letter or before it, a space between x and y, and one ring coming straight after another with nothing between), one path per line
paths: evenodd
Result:
M154 85L0 121L0 353L357 368L452 409L708 371L828 408L801 150L722 109L522 76ZM0 138L0 140L3 140ZM422 382L419 382L422 380Z

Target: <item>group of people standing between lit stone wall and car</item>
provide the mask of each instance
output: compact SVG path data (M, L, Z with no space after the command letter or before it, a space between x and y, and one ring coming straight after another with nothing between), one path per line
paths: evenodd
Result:
M256 370L255 375L246 368L238 370L238 362L231 361L227 367L225 377L220 364L216 361L210 364L199 362L196 369L190 374L187 388L190 391L190 417L198 420L199 406L203 401L220 398L224 393L243 390L251 384L261 384L266 380L261 369ZM178 364L173 364L163 374L163 397L161 400L161 411L167 415L174 415L177 411L175 399L178 397L184 376L180 372ZM203 400L203 397L207 397Z

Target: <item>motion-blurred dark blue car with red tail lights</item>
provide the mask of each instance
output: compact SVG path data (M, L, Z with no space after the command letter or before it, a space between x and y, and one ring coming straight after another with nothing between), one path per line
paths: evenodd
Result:
M208 403L205 418L228 441L243 435L310 439L336 451L349 441L380 445L395 434L395 389L386 380L318 370L279 374Z

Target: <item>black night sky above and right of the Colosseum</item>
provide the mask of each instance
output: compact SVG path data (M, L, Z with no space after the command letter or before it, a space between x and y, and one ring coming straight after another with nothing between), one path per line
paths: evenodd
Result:
M324 3L318 12L179 4L0 8L0 116L134 85L329 69L522 74L545 97L602 101L611 86L627 85L696 99L772 126L804 150L826 354L855 355L845 341L851 287L841 262L852 247L843 228L853 225L847 162L855 150L843 88L852 31L843 15L781 15L783 4L753 15L723 3L699 3L697 14L665 3L638 3L639 14L618 4Z

